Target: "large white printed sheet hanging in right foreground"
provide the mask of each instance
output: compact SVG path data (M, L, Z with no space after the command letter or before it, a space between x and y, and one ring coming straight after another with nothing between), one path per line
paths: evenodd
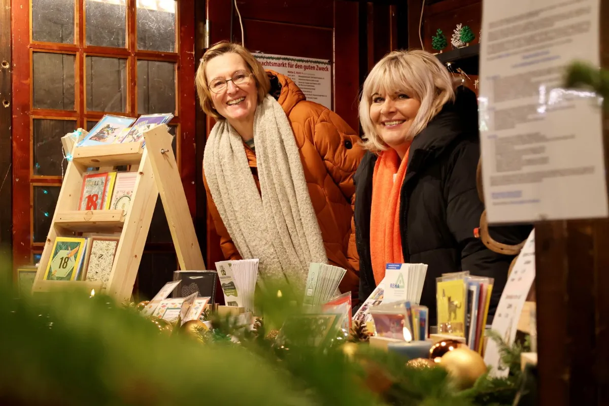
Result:
M599 66L599 0L484 1L479 124L490 223L607 217L599 98L565 66Z

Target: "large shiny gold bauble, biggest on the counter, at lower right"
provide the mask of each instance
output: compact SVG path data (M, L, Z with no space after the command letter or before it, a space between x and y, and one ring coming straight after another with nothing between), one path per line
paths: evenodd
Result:
M452 381L459 389L473 387L476 379L487 371L481 355L466 347L446 352L440 359L439 365L448 371Z

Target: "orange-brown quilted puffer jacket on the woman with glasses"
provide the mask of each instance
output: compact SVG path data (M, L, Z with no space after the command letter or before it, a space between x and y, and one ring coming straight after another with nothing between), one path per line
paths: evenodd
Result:
M270 94L283 107L294 130L311 202L322 230L328 263L347 270L340 283L340 292L351 290L353 298L357 299L359 270L354 270L347 261L347 251L355 194L353 174L364 156L364 150L359 145L359 136L336 113L318 103L306 100L296 83L287 76L273 71L267 71L267 74L271 82ZM256 155L246 144L244 145L259 191ZM241 259L211 198L205 173L203 173L203 182L207 192L209 213L220 236L222 253L227 259ZM355 249L351 247L351 250Z

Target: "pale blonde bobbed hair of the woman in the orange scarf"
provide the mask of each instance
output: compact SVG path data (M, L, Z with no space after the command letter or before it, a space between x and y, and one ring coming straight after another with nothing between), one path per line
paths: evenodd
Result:
M423 131L442 107L455 97L452 77L434 55L419 49L393 51L385 55L368 74L359 102L359 120L364 130L363 145L374 153L388 148L376 133L370 118L370 106L375 93L403 93L421 102L404 141Z

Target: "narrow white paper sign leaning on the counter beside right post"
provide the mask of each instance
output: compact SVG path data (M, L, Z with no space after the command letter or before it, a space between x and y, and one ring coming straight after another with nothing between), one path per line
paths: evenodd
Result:
M534 229L524 243L518 259L516 259L516 264L514 264L503 293L501 293L501 299L499 299L499 305L491 325L491 329L498 332L507 345L512 345L516 338L518 321L533 281L535 281ZM499 370L500 358L499 347L495 341L489 339L484 354L484 362L493 368L491 370L493 376L507 376L509 373L508 369Z

